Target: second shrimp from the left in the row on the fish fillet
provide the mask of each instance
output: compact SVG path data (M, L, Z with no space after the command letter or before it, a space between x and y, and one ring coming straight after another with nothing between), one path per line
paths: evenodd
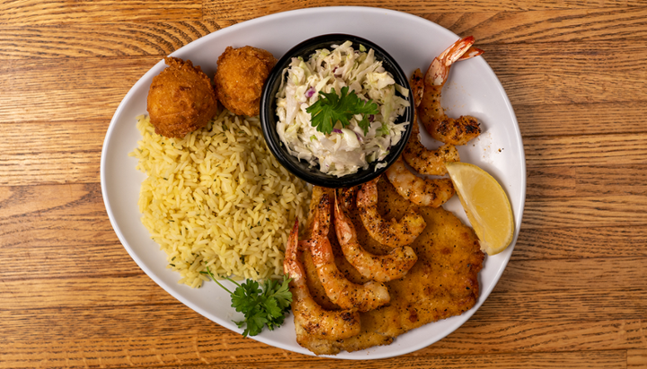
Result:
M391 300L386 286L374 281L364 285L354 284L341 273L334 262L332 245L328 240L330 207L330 197L327 194L323 195L316 208L313 238L305 242L310 246L323 289L332 303L338 304L341 309L354 309L359 312L377 309Z

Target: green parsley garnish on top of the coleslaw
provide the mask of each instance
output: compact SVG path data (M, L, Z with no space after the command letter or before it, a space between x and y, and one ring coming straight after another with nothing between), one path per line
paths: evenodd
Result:
M348 90L348 86L341 87L341 95L338 95L335 89L329 93L319 92L322 97L306 108L306 112L312 117L312 127L328 135L338 121L341 127L346 127L350 125L350 119L354 115L361 114L362 119L359 120L358 125L364 131L364 135L368 133L368 127L370 127L368 115L379 112L377 104L372 100L363 101L359 99L357 93L354 91L349 93Z

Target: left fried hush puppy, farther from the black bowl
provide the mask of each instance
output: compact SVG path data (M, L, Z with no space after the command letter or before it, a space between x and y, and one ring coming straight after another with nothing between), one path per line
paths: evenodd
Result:
M191 60L164 57L168 67L153 77L146 110L155 133L182 138L205 127L216 115L216 92L211 80Z

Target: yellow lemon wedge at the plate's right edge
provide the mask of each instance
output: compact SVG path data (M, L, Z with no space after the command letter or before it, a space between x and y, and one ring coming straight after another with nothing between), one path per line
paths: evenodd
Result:
M488 255L505 250L514 237L514 215L499 182L474 164L447 163L447 169L481 250Z

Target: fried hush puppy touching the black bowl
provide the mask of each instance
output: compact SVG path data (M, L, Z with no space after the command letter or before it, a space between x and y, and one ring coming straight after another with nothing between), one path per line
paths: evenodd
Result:
M214 77L218 101L237 115L259 115L262 87L276 63L262 48L227 47L218 57Z

